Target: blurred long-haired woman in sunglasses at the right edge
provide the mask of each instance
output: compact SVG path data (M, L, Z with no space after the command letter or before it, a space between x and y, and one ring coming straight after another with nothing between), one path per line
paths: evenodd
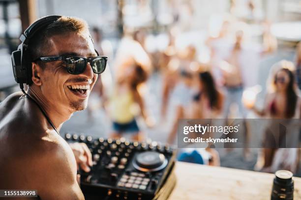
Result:
M271 119L300 119L301 98L296 90L294 72L295 67L292 62L283 60L276 63L270 72L269 93L266 96L265 107L259 110L256 107L249 106L260 116ZM271 121L271 128L274 124ZM268 130L268 128L267 128ZM291 131L291 130L290 130ZM290 134L295 134L294 131ZM299 135L299 129L296 129L296 135ZM280 138L281 139L281 138ZM265 133L264 146L272 146L273 138ZM281 141L280 141L281 142ZM263 149L262 157L258 158L256 168L264 172L275 172L279 169L295 172L297 169L298 149Z

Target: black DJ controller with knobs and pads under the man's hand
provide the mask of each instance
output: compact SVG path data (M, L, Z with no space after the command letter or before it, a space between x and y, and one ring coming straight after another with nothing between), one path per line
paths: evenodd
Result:
M176 184L176 150L168 145L69 133L65 139L92 153L91 171L79 172L86 200L166 200Z

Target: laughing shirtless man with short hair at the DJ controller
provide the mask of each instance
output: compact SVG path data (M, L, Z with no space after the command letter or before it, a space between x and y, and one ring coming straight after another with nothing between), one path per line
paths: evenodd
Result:
M89 59L97 54L88 25L60 17L36 33L29 48L33 82L29 98L18 92L0 103L0 189L34 189L42 200L82 200L77 166L89 172L91 153L84 144L69 146L56 129L87 107L98 76ZM63 55L88 58L85 70L74 75L66 60L43 62L43 57Z

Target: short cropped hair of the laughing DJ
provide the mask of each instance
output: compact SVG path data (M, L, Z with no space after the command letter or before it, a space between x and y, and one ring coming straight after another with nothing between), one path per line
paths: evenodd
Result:
M40 56L45 56L45 51L50 46L50 38L55 35L66 34L68 32L89 33L89 26L86 21L76 17L62 16L52 24L39 30L29 42L31 60Z

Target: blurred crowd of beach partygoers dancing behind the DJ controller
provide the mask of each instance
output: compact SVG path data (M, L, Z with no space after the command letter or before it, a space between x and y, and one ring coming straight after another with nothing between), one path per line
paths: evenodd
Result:
M232 1L231 1L232 2ZM234 12L235 1L231 12ZM185 4L185 12L193 8ZM255 7L249 1L250 15ZM277 39L271 34L268 21L241 20L232 13L223 18L218 31L187 30L187 19L174 13L174 23L154 34L147 28L126 28L116 52L103 40L100 29L93 28L96 50L108 55L110 67L94 89L100 97L99 106L112 121L111 137L129 135L133 140L145 140L138 119L149 128L165 122L168 109L173 110L173 125L167 143L175 144L179 119L269 118L300 119L301 45L296 48L296 60L274 63L266 77L266 98L256 106L260 61L277 51ZM188 16L189 16L188 15ZM187 18L187 16L185 16ZM189 21L189 20L188 20ZM256 24L261 34L248 30ZM213 33L212 33L213 32ZM152 75L162 78L160 116L151 116L148 99L148 80ZM298 87L299 86L299 87ZM177 102L170 105L170 101ZM96 106L97 107L97 106ZM89 107L90 114L93 106ZM299 130L296 134L299 134ZM248 140L245 133L245 140ZM263 143L269 142L263 136ZM214 149L181 150L179 159L200 164L219 165ZM248 149L243 150L247 159ZM256 169L274 172L287 169L296 172L299 149L262 149Z

